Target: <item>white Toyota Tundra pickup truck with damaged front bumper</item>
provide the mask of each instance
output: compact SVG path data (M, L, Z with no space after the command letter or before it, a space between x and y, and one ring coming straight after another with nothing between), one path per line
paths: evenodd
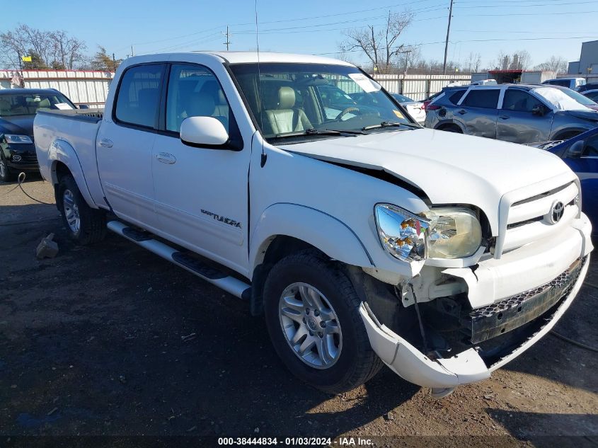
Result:
M323 391L382 363L437 397L487 379L551 330L589 265L560 159L425 130L334 59L132 57L103 113L40 112L34 134L76 241L108 228L246 299Z

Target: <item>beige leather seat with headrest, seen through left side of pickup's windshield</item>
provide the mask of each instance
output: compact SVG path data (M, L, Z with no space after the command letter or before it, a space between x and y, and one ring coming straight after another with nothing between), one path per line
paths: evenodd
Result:
M294 107L295 91L292 87L282 86L269 93L264 96L266 109L262 113L265 134L299 132L313 127L304 111Z

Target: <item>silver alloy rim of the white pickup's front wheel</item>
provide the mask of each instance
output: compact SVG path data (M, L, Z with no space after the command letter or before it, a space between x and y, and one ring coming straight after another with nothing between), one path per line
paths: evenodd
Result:
M280 295L280 327L295 355L309 367L329 369L340 357L343 333L330 301L307 283L293 283Z

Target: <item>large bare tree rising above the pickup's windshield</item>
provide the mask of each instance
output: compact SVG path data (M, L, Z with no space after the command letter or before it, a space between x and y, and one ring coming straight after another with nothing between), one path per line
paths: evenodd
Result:
M376 29L374 25L362 28L351 28L347 31L347 39L340 44L342 52L361 50L378 70L391 67L393 59L404 45L396 45L403 30L413 20L413 13L392 13L386 17L383 27Z

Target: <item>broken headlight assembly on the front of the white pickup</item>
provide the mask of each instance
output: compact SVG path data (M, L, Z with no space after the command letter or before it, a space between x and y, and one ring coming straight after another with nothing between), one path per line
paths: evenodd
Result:
M382 246L403 261L465 258L476 253L482 229L476 214L465 208L439 208L421 216L390 204L375 208Z

